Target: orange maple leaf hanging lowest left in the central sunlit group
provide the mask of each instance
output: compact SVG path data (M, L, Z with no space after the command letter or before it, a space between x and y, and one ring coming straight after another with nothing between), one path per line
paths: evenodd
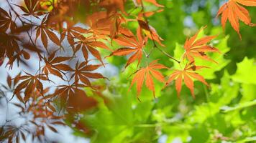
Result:
M133 84L137 83L137 97L140 95L144 81L146 82L147 89L150 89L155 97L155 86L152 77L160 82L165 82L165 77L163 77L163 74L156 69L168 69L168 67L164 66L163 64L158 64L157 60L155 60L145 68L142 68L136 72L129 88L131 88Z

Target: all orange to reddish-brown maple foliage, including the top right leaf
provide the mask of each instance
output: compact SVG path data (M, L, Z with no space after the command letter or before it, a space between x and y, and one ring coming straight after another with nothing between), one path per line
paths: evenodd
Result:
M53 114L56 112L55 107L52 106L54 99L61 99L60 111L63 109L62 107L68 110L70 106L76 106L76 104L69 104L73 103L70 102L73 97L87 97L83 91L84 88L90 88L94 92L98 90L96 86L91 84L91 80L106 79L95 71L99 67L105 66L100 49L111 52L109 56L129 56L125 68L137 61L137 70L134 72L131 84L131 87L133 84L137 84L137 98L144 82L155 97L155 85L152 77L165 83L166 86L175 80L178 96L183 81L186 87L191 90L193 97L195 97L193 79L208 85L204 77L196 73L198 69L207 68L206 66L198 66L197 59L216 62L206 54L219 52L218 49L209 44L216 36L204 36L198 39L198 33L195 34L184 44L185 52L180 57L181 60L173 58L160 47L165 46L162 43L163 39L147 20L148 17L163 10L163 6L155 0L24 0L22 2L21 4L13 4L6 0L9 9L0 8L0 66L4 63L4 59L8 60L6 67L9 66L10 69L16 63L18 66L19 63L29 66L27 61L31 59L31 56L36 55L38 59L39 67L35 74L24 71L14 79L8 77L6 80L8 83L14 81L13 93L11 98L4 96L8 102L14 97L19 100L19 103L15 104L22 109L19 114L29 112L34 114L34 118L30 120L37 127L33 139L36 137L42 140L40 137L44 137L45 134L44 125L35 122L37 118L42 118L40 121L56 132L51 124L56 122L60 124L60 122L49 122L48 120L58 120L63 115ZM132 9L127 9L125 6L127 3L133 4ZM144 3L155 5L157 10L146 11ZM217 14L222 14L223 26L229 19L238 33L239 19L245 24L255 25L251 24L247 10L239 4L255 6L255 0L229 0ZM77 14L80 9L86 9L86 16L83 15L81 19ZM78 23L83 26L79 26ZM136 29L129 29L129 23L136 23ZM136 34L133 30L136 31ZM121 47L111 49L110 45L113 44L113 41ZM68 43L68 46L65 43ZM150 44L152 44L152 48L147 53L145 49ZM165 80L163 74L158 70L170 68L157 63L158 60L141 67L144 56L148 58L154 54L153 51L155 50L160 51L164 56L168 56L180 65L180 69L175 69L168 80ZM63 56L69 51L72 54ZM83 54L83 61L78 59L80 54ZM94 60L90 56L99 63L91 64L91 61ZM76 64L73 66L68 62ZM185 65L182 65L184 63ZM50 76L58 77L65 84L48 89L44 82L55 83L50 79ZM9 87L11 88L11 86ZM5 89L8 90L8 88ZM50 94L51 90L54 92ZM96 105L93 99L88 98L88 100L93 103L91 106ZM73 110L68 111L74 112ZM72 114L67 117L72 117ZM24 130L23 127L20 129ZM9 139L9 142L12 142L12 139L15 138L16 142L19 142L19 134L24 134L21 130L6 125L1 128L1 134L4 134L1 140ZM25 131L32 134L27 129ZM25 140L23 135L22 138Z

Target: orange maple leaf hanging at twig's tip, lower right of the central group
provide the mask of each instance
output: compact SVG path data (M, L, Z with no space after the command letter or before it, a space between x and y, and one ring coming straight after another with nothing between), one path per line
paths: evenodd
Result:
M190 64L186 64L183 70L175 70L173 74L170 74L170 77L166 82L165 87L170 84L170 82L175 80L175 89L177 91L178 97L180 97L180 91L184 80L186 87L191 90L192 97L195 98L192 78L197 79L203 84L206 84L206 86L209 86L209 84L207 84L207 82L205 81L204 77L195 72L196 70L202 68L206 68L206 66L195 66L193 65L193 62Z

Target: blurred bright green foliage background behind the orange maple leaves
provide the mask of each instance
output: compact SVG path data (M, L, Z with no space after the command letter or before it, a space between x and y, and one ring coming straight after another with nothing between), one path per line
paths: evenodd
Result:
M198 61L198 65L211 69L199 72L210 87L195 82L196 99L191 97L185 86L178 98L174 84L163 89L163 84L155 81L156 99L152 97L152 92L143 87L139 102L135 87L128 90L129 76L136 71L136 64L124 70L127 57L111 56L106 59L109 65L100 69L109 81L94 82L102 85L101 92L93 93L85 89L88 96L96 97L98 104L90 108L79 104L84 110L71 114L79 126L74 126L67 119L70 128L59 127L58 131L68 130L68 133L52 137L53 133L49 131L50 140L96 143L256 142L256 28L240 22L242 40L229 22L223 30L216 13L224 2L159 0L158 3L165 6L164 11L149 18L150 25L164 39L166 47L163 49L176 58L180 58L186 38L193 36L201 27L207 25L204 34L219 35L212 44L221 54L210 55L218 64ZM146 9L150 11L156 8L148 4ZM255 7L247 9L252 23L256 23ZM137 25L131 23L129 26L136 29ZM150 44L147 48L150 51ZM101 52L109 55L109 52ZM171 59L158 51L154 51L147 60L150 62L154 59L175 67ZM1 67L0 74L4 71L6 69ZM166 70L164 74L168 76L171 71ZM78 103L79 98L73 102Z

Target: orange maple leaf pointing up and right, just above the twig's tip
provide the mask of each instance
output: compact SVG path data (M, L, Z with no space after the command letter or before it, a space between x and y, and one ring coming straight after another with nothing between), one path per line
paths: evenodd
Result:
M201 30L205 29L202 28ZM187 58L188 61L193 62L194 57L198 57L201 59L205 59L207 61L214 61L213 59L210 59L209 56L206 55L206 52L220 52L219 49L214 48L213 46L207 45L209 41L216 38L216 36L204 36L201 39L196 39L198 36L198 33L201 31L199 30L194 36L192 36L190 39L186 39L186 42L184 44L185 53L183 54L183 59Z

